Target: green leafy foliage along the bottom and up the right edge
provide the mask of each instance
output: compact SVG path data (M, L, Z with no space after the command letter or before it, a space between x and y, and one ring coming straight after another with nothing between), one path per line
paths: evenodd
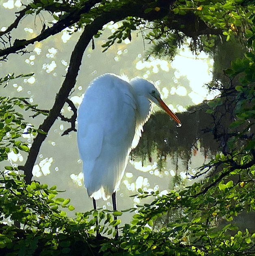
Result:
M252 46L253 50L234 61L227 71L229 76L241 75L236 87L237 120L232 126L245 129L233 136L229 154L219 153L201 167L201 172L216 168L215 174L181 191L171 190L168 195L139 189L138 198L154 199L138 205L133 221L120 226L118 239L111 239L95 237L95 231L114 237L115 226L121 224L114 216L121 212L91 210L76 213L75 219L67 217L60 207L74 208L69 205L70 199L56 197L56 187L25 184L22 176L7 169L0 179L2 252L9 256L254 255L254 230L240 230L234 222L242 214L255 212L255 145L254 135L249 133L255 120L254 41ZM212 106L212 111L217 111L217 106ZM242 146L237 143L240 139ZM8 219L16 226L4 222Z

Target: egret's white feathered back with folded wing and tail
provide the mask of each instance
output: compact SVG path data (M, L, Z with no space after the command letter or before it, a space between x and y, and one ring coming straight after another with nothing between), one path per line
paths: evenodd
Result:
M136 128L130 85L110 74L93 81L78 113L78 147L84 184L95 199L107 199L119 186Z

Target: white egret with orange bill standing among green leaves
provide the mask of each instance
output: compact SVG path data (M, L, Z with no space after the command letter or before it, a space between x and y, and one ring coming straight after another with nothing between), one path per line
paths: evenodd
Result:
M136 147L149 119L152 103L178 124L181 122L160 98L158 89L143 78L104 74L91 82L78 110L78 148L84 186L96 201L112 195L116 210L119 187L130 151Z

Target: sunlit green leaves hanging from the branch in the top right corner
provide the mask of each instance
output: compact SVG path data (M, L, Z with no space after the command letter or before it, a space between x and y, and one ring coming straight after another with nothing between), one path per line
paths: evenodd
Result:
M215 40L224 35L224 40L239 35L243 37L248 28L253 27L255 7L242 4L239 0L230 1L175 1L171 9L173 16L166 16L153 23L152 31L145 39L153 46L147 53L173 59L177 48L187 43L193 52L211 53L217 47ZM212 28L212 30L210 30ZM203 34L199 34L202 30Z

